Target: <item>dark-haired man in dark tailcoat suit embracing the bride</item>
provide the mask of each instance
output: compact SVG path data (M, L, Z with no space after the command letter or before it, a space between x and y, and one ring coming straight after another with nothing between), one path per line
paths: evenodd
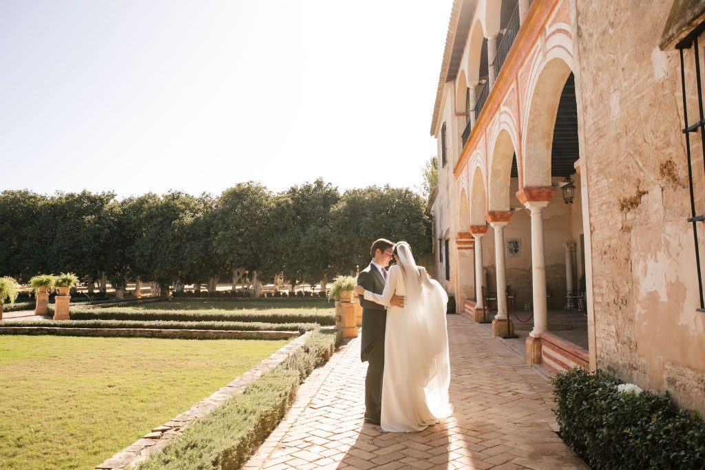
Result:
M381 294L387 281L386 267L392 259L393 242L380 238L369 249L372 262L360 271L357 284L365 290ZM404 307L404 297L394 295L391 304ZM362 305L362 345L360 359L368 361L367 377L364 379L364 420L379 424L382 405L382 373L384 372L384 330L387 313L385 307L365 300L360 295Z

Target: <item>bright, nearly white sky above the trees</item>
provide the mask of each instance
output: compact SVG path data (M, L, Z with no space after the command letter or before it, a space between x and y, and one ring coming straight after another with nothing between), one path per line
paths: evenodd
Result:
M451 0L0 0L0 190L419 187Z

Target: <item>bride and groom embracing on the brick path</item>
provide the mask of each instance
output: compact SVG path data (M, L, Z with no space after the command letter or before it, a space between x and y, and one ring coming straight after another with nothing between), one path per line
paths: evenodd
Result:
M365 421L388 432L423 431L453 413L443 287L416 265L407 242L381 238L357 277ZM391 259L396 265L389 271Z

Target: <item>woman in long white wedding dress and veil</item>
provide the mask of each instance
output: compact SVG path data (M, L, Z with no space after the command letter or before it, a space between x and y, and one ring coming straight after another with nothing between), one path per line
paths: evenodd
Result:
M448 295L425 268L416 266L407 242L398 242L393 255L397 264L389 269L381 295L361 285L355 292L388 307L381 427L388 432L423 431L453 413L448 401ZM394 293L405 296L404 307L389 307Z

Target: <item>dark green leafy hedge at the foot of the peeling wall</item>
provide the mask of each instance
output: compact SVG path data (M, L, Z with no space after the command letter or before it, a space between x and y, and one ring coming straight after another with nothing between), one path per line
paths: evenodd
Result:
M592 468L705 468L705 423L668 394L618 392L618 379L582 368L552 380L560 438Z

